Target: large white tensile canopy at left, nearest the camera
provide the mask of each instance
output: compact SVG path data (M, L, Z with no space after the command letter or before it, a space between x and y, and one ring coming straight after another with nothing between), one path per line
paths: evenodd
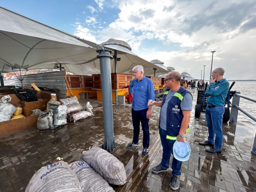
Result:
M97 46L2 7L0 23L0 73L12 68L57 69L59 63L74 74L100 73L95 67L76 66L94 58Z

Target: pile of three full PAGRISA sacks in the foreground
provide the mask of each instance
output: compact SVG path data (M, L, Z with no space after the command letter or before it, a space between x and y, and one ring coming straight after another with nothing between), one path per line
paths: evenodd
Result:
M124 185L127 182L124 165L107 151L98 147L89 148L82 152L82 159L68 164L57 158L57 161L33 175L25 192L114 192L108 183Z

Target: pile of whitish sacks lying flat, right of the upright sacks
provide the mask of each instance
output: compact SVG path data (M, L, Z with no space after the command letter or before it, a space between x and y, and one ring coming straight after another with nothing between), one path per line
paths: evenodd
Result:
M76 96L60 99L60 102L63 105L66 105L67 116L70 122L76 122L79 119L85 119L92 116L92 106L90 105L90 103L86 103L85 111L84 107L79 103Z

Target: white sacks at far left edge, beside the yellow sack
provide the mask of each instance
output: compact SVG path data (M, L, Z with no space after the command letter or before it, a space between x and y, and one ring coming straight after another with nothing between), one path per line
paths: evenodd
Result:
M11 103L10 95L3 96L0 99L0 122L9 121L16 111L16 107Z

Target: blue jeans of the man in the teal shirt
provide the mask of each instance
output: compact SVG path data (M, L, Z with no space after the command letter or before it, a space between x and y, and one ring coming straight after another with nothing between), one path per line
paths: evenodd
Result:
M224 106L214 108L206 107L206 121L209 133L208 141L214 143L214 148L218 150L222 148L223 142L222 119L224 112Z

